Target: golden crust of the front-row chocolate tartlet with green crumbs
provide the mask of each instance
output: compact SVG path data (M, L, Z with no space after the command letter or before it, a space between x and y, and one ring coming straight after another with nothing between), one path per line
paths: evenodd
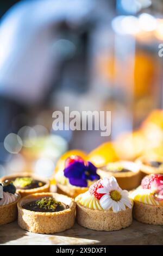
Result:
M70 206L59 212L35 212L22 208L22 205L40 199L53 197ZM35 193L22 198L18 204L18 225L33 233L51 234L70 229L74 225L76 203L72 198L58 193Z

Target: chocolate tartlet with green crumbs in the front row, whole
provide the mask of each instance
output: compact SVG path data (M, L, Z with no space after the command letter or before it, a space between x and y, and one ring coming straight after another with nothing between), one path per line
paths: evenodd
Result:
M55 211L62 205L64 205L63 209ZM17 208L18 225L33 233L58 233L74 225L76 203L72 198L62 194L31 194L23 197L18 202Z

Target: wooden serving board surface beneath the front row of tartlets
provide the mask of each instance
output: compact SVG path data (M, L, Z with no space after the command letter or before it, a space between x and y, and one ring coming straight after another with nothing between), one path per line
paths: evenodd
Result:
M0 226L0 245L163 245L163 225L133 221L118 231L95 231L77 223L57 234L34 234L18 227L17 222Z

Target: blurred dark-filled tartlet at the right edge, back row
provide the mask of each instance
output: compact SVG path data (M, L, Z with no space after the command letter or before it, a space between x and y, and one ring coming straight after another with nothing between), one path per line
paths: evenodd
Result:
M152 173L163 174L163 157L161 156L141 156L135 162L139 164L143 176Z

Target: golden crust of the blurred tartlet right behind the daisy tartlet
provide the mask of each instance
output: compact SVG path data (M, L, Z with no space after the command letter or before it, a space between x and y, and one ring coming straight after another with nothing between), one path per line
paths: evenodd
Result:
M124 163L131 163L132 165L135 164L134 162L129 161L119 161L118 163L123 164ZM140 172L139 166L137 166L136 172L109 172L108 170L103 170L102 168L97 169L97 174L103 179L104 177L109 178L110 176L114 176L119 184L119 186L122 188L122 190L133 190L133 188L136 188L140 185L142 175Z

